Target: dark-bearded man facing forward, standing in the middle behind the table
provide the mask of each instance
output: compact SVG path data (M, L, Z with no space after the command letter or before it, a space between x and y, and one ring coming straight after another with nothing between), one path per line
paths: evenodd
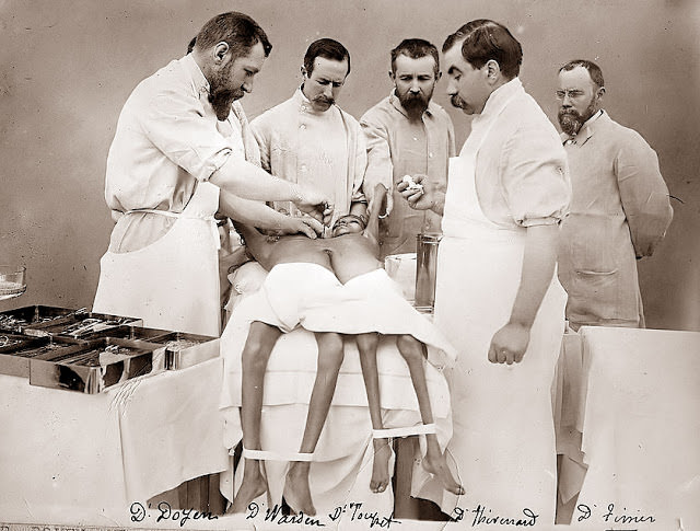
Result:
M376 184L392 191L380 222L381 258L416 252L416 234L440 232L440 215L409 208L396 191L404 175L413 174L430 175L438 188L445 189L455 140L450 116L431 101L440 77L434 45L421 38L402 41L392 50L394 90L360 118L368 142L364 191L371 207Z

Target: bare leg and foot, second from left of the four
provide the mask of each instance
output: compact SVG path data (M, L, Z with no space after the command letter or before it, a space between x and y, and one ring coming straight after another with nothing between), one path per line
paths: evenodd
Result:
M308 403L306 427L299 449L300 453L313 453L316 450L316 443L326 423L330 401L336 391L338 371L345 355L342 337L339 334L316 333L316 343L318 344L316 380ZM313 516L316 513L316 508L308 487L310 466L311 463L307 461L292 462L284 483L284 499L294 511Z

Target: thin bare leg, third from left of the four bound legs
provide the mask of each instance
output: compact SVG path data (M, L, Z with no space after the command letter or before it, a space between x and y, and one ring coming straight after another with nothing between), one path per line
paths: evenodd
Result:
M384 429L382 422L382 401L380 395L380 373L376 366L376 347L380 336L375 333L355 336L360 350L360 365L364 389L368 392L372 429ZM389 459L392 457L388 439L372 439L374 458L372 462L372 480L370 488L373 493L383 493L389 484Z

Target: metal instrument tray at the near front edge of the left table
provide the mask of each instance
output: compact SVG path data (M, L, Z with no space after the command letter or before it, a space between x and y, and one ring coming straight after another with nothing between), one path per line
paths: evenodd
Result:
M104 337L30 359L30 384L81 393L101 393L153 372L158 345Z

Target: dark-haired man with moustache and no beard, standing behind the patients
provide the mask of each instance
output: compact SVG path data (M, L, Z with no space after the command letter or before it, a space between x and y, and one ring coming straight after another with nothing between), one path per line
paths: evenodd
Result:
M320 38L306 49L301 71L303 82L292 97L250 122L262 168L330 197L332 222L347 213L366 221L364 137L358 120L336 104L350 73L350 54L337 41ZM279 201L275 208L298 211Z

